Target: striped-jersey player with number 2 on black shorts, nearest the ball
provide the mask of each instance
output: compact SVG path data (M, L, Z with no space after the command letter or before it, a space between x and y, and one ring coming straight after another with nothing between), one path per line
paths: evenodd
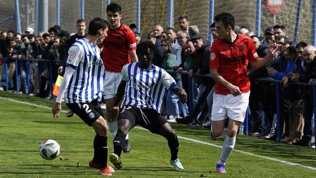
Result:
M96 17L89 23L88 36L76 41L69 49L64 78L60 85L56 103L52 109L54 118L61 111L61 101L96 132L94 137L94 158L89 162L92 168L99 168L100 175L112 175L114 169L107 165L107 124L99 101L103 95L105 70L100 57L101 43L107 36L108 22Z

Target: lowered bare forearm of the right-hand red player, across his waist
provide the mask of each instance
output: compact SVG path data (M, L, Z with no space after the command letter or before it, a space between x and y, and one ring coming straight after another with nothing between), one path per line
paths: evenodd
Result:
M232 93L234 97L241 94L238 86L234 86L233 84L229 83L218 73L218 68L210 68L210 73L211 73L211 77L217 83L221 84L222 86L227 87L230 93Z

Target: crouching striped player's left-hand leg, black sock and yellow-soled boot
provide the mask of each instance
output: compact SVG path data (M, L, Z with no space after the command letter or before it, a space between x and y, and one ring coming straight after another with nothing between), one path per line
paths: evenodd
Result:
M114 153L110 155L110 161L118 169L122 168L121 153L125 143L126 134L131 130L131 122L128 119L119 119L118 131L113 141Z

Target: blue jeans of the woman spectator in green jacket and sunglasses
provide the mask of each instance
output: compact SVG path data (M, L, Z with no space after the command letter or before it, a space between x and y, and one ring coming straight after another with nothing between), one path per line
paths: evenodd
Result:
M181 79L176 80L176 83L178 87L182 88ZM170 91L167 93L166 110L167 115L186 117L189 114L188 106L186 104L183 105L179 97Z

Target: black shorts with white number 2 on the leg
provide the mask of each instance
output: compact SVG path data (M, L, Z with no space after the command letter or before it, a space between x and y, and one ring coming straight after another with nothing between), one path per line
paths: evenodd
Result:
M104 118L97 99L91 103L66 103L66 105L90 127L100 116Z

